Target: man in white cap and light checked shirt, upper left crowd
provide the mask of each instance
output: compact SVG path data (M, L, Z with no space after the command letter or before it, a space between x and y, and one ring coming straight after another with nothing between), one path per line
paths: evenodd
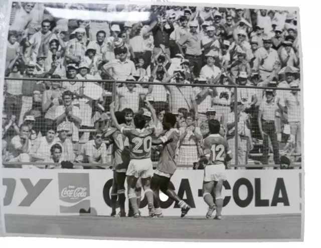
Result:
M78 64L86 53L86 43L83 37L86 33L85 29L78 28L74 31L76 38L70 40L66 48L66 62L67 64Z

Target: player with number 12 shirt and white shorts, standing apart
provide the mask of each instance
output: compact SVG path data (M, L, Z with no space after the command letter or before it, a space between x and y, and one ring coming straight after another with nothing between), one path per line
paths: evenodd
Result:
M200 158L200 163L205 164L203 180L203 198L209 205L206 218L211 218L216 209L215 219L221 219L223 208L222 187L226 180L225 170L227 162L232 159L232 152L227 140L219 133L221 129L220 122L211 119L208 122L210 135L204 139L204 156ZM212 196L214 190L215 203Z

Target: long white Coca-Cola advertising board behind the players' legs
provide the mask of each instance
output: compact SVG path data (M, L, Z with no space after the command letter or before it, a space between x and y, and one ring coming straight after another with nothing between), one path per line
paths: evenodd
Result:
M228 170L224 183L224 215L300 213L301 170ZM30 215L99 215L111 213L111 170L30 170L3 168L4 212ZM171 187L192 206L189 215L204 216L203 171L178 170ZM293 186L294 185L294 186ZM147 216L142 193L140 210ZM126 200L126 206L128 201ZM171 199L161 204L166 216L179 216Z

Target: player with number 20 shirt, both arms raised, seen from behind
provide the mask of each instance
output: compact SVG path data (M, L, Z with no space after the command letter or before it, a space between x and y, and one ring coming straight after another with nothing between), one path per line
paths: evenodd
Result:
M151 154L151 135L154 133L157 124L157 117L154 109L148 101L146 101L149 108L153 125L145 128L146 120L142 114L134 116L135 129L126 129L117 123L114 114L114 103L110 104L111 120L114 122L115 127L128 137L130 145L130 162L126 172L127 186L128 186L128 199L134 212L134 217L140 217L139 208L137 205L137 197L135 193L136 183L141 177L141 184L145 191L145 196L148 202L149 215L152 216L153 210L153 193L150 189L150 181L152 176L152 162L150 159Z

